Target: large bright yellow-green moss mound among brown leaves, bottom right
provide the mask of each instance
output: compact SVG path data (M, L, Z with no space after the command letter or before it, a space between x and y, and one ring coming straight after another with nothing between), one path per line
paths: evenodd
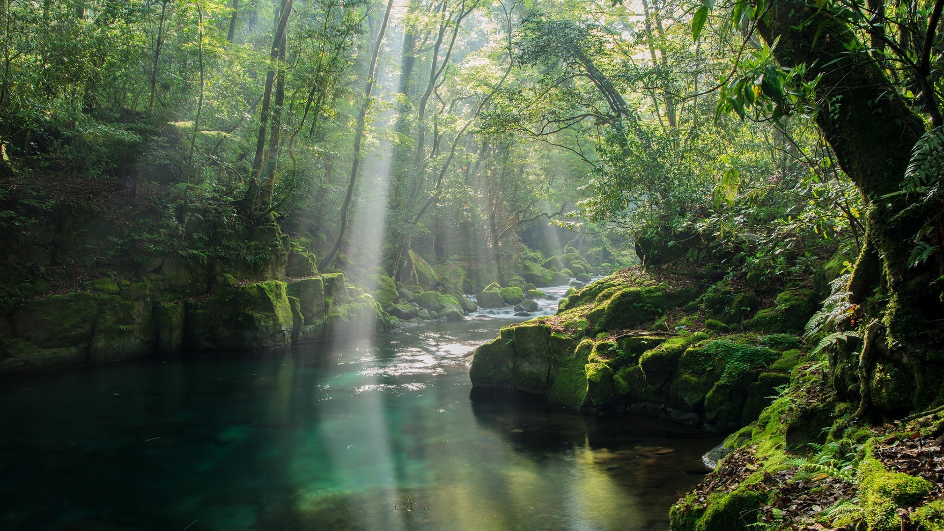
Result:
M923 478L885 470L882 462L871 456L870 445L866 453L859 464L857 481L868 530L899 531L902 518L898 509L917 504L934 485Z

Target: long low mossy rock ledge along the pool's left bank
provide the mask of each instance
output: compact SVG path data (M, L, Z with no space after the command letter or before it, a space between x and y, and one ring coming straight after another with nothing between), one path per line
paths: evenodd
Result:
M231 277L230 277L231 279ZM0 374L171 353L284 347L392 326L344 275L242 285L161 300L147 283L87 283L85 291L26 301L0 336Z

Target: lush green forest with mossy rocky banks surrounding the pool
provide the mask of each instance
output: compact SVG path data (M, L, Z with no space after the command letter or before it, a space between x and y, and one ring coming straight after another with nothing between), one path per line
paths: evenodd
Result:
M0 0L0 382L514 314L473 398L725 437L590 528L940 531L942 11Z

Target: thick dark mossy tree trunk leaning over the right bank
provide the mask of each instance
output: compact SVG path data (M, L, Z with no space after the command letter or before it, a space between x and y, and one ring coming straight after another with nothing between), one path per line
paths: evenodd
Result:
M908 407L926 405L941 385L939 376L928 378L941 372L928 355L933 344L929 340L941 332L944 307L936 284L938 265L909 267L909 257L919 231L936 225L936 213L916 209L905 214L908 197L892 195L902 189L924 122L896 94L868 46L857 43L849 26L818 10L815 2L774 2L758 29L767 43L779 39L774 56L782 65L806 64L810 79L821 76L816 88L818 126L867 205L866 241L849 285L851 302L859 308L847 326L857 326L862 337L874 339L877 355L906 368L907 378L918 384L905 401ZM866 334L873 319L881 320L884 332ZM834 365L857 361L840 356ZM864 369L868 373L875 367L870 363ZM881 386L881 379L872 381ZM847 388L840 391L868 396L868 390L856 392L858 378L844 382Z

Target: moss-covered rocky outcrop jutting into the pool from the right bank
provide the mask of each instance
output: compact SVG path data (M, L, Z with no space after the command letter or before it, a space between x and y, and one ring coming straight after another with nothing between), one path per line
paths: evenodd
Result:
M710 431L756 419L789 381L801 342L795 335L741 332L740 325L731 327L734 333L727 325L725 332L692 330L704 329L704 290L672 280L628 270L562 300L556 316L503 328L474 352L472 384L542 395L584 412L648 414ZM793 311L781 299L770 314Z

